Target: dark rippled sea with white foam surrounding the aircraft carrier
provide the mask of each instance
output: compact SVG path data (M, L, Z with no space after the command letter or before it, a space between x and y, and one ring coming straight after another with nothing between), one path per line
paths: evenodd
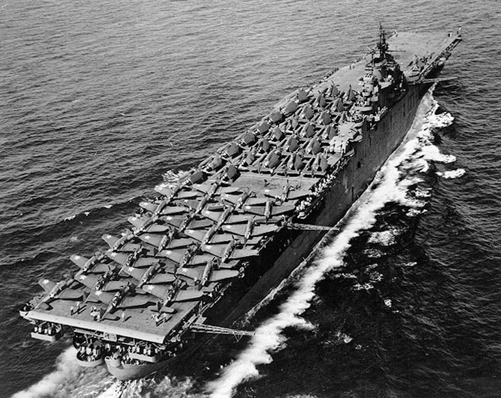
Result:
M501 396L499 3L4 2L0 396ZM142 197L359 58L379 23L462 26L406 142L341 232L182 368L117 382L29 337L42 276L126 227Z

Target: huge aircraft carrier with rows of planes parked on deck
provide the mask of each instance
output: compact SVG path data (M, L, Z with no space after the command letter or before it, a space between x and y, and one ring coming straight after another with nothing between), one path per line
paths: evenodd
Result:
M71 330L82 366L119 379L168 366L194 332L233 333L347 212L398 147L459 32L380 28L376 47L284 98L156 199L109 249L74 254L78 267L20 311L31 336ZM239 332L243 333L243 332Z

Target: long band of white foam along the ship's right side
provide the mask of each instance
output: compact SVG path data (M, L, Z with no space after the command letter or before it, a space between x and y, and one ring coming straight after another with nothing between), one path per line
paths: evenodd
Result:
M305 268L295 282L295 290L280 306L279 312L265 320L256 329L248 346L223 369L221 376L208 383L207 390L212 398L229 397L242 381L258 376L257 365L270 363L273 360L270 353L285 344L282 331L286 327L312 327L300 315L310 307L316 283L328 270L343 266L344 253L350 247L351 239L374 225L378 210L389 202L402 203L411 208L421 206L406 197L408 187L422 180L428 161L449 163L455 160L441 154L432 144L433 129L452 122L450 114L436 114L437 108L438 104L430 91L423 98L404 143L378 173L372 189L369 188L357 200L341 221L341 232L323 249L318 260L301 265Z

